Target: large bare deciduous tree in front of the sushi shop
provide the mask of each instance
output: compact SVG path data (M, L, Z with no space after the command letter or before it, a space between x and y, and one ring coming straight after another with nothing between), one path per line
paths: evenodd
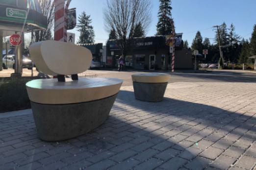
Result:
M104 10L106 30L114 31L124 58L136 25L147 30L151 22L151 3L149 0L107 0Z

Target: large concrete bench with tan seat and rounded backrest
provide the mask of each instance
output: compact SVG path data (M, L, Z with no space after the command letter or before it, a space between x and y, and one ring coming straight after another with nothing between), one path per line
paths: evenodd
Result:
M92 60L88 49L55 41L32 44L30 55L40 71L53 76L84 72ZM122 83L105 78L28 82L38 136L45 141L61 141L99 127L107 119Z

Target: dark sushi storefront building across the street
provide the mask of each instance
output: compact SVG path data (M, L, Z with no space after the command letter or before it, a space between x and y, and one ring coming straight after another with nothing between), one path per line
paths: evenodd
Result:
M176 68L191 69L191 51L183 48L182 34L177 36ZM147 70L168 70L171 68L170 47L166 45L165 36L134 38L126 55L126 67ZM118 42L109 40L106 44L106 65L117 67L121 50Z

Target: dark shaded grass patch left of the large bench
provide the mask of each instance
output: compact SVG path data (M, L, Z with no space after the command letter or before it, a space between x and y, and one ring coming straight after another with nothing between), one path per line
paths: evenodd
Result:
M26 83L35 78L0 78L0 113L31 108Z

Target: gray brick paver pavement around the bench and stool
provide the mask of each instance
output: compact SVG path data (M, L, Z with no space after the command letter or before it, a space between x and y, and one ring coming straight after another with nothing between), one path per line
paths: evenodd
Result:
M63 142L31 114L0 118L0 170L256 170L256 84L169 84L161 103L123 86L108 120Z

